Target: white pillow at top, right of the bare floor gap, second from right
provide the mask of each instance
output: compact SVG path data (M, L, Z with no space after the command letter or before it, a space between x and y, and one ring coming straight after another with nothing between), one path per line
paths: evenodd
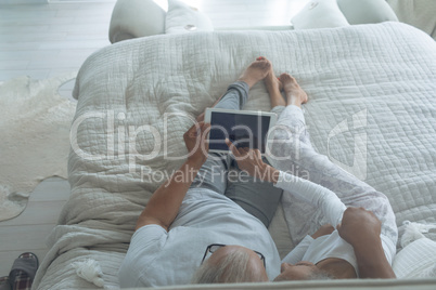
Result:
M312 0L292 18L295 29L341 27L349 25L336 0Z

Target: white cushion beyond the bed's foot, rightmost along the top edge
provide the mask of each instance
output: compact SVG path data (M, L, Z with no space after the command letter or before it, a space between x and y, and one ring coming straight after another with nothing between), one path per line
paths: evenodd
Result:
M337 4L349 24L398 22L385 0L337 0Z

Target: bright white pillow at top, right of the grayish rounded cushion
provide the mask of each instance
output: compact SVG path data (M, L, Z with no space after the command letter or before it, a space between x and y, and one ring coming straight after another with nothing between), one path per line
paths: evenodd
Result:
M178 0L168 0L165 32L189 34L193 31L214 31L214 26L210 19L198 10Z

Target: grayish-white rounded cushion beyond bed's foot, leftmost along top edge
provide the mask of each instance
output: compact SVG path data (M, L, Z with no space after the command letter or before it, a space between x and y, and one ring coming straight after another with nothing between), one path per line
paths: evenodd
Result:
M164 34L165 15L153 0L118 0L112 12L110 41Z

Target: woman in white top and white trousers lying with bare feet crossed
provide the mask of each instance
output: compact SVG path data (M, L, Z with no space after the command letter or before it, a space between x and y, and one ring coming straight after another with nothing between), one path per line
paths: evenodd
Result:
M395 278L390 263L396 252L397 227L387 198L355 176L338 170L326 157L313 150L300 108L302 103L307 102L307 94L287 74L283 74L280 81L286 103L280 93L279 82L273 79L267 82L272 110L280 114L277 126L282 127L275 131L274 141L283 141L291 135L294 142L273 141L271 151L275 157L285 157L295 156L295 150L299 150L299 158L280 162L274 162L272 158L274 167L283 170L280 171L264 163L258 150L235 148L230 142L228 145L240 169L272 182L284 194L297 195L319 208L329 223L337 226L335 230L333 226L326 225L312 236L307 236L283 259L281 274L274 280ZM324 184L332 185L335 193L284 172L294 168L293 164L313 175L317 183L329 181ZM347 209L342 200L350 208Z

